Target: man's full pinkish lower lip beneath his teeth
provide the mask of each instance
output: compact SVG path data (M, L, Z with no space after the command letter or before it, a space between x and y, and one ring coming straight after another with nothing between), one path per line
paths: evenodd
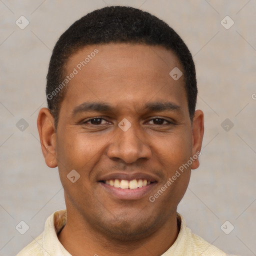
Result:
M114 197L125 200L135 200L145 196L149 193L152 188L156 185L156 182L150 183L149 185L142 186L135 189L119 188L107 185L103 182L99 182L107 192L111 193Z

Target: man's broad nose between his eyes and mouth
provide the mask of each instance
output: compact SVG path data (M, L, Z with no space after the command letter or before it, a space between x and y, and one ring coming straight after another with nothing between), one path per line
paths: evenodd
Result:
M149 159L152 152L145 140L142 131L135 125L131 125L126 131L117 127L116 134L107 147L107 156L122 159L126 163L135 162L138 158Z

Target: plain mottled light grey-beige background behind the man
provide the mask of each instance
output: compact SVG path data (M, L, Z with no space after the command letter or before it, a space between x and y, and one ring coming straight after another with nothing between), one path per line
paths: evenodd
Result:
M188 45L205 133L200 166L178 211L194 233L225 252L256 255L255 0L0 0L0 255L17 253L43 231L47 216L65 208L57 168L48 168L41 153L37 113L46 106L57 38L106 5L151 12ZM29 21L24 29L15 24L21 15ZM226 15L234 21L229 29L221 24ZM28 123L23 131L16 126L21 118ZM229 121L227 131L226 118L234 125ZM21 220L29 225L23 235L15 229ZM234 226L229 234L220 228L226 220Z

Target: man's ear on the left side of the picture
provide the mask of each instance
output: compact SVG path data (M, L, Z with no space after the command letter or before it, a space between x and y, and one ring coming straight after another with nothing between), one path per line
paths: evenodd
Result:
M57 166L56 133L54 128L54 118L46 107L41 108L38 113L37 129L45 163L50 168L54 168Z

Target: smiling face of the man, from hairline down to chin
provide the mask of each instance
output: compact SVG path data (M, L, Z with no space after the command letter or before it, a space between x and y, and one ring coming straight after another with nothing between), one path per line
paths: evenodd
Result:
M170 50L127 43L86 46L67 62L66 74L77 73L66 85L51 156L67 210L106 235L155 231L176 213L198 167L193 160L166 184L202 139L202 113L192 128L184 76L169 75L174 67L182 71Z

